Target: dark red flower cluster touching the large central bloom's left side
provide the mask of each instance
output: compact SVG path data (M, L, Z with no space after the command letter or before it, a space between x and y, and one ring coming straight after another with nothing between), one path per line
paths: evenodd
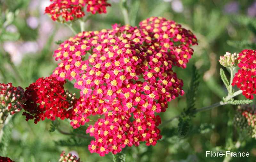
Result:
M24 103L23 115L26 120L34 119L37 123L45 118L55 120L56 117L65 119L69 106L67 94L63 85L66 81L58 81L54 77L39 78L29 85L25 91L27 101Z

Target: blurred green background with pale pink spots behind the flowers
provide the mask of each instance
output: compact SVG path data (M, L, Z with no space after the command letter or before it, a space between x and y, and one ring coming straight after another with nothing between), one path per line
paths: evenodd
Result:
M244 48L255 49L256 1L254 0L128 0L132 26L150 16L162 16L175 20L192 30L199 45L186 69L176 68L178 77L188 90L192 66L200 74L196 107L201 108L219 102L226 95L221 82L218 62L226 51L239 53ZM110 28L112 24L124 25L119 0L112 4L107 14L93 15L85 24L86 30ZM50 0L0 0L0 82L12 82L15 86L27 87L39 77L47 77L57 66L53 51L55 41L74 36L69 28L53 22L44 14ZM79 30L79 24L73 25ZM11 60L11 62L10 62ZM227 75L228 70L225 69ZM71 92L76 92L66 86ZM241 97L243 98L243 97ZM255 103L255 101L254 101ZM162 121L179 115L186 107L186 97L181 96L169 103L161 114ZM163 138L156 146L126 148L126 160L136 162L197 162L197 161L253 161L256 159L256 140L241 135L233 127L236 106L222 106L196 114L185 137L177 133L178 120L162 127ZM62 150L72 152L84 162L112 161L91 154L88 139L72 133L68 121L60 121L61 129L71 132L63 135L57 130L50 132L51 121L34 124L26 122L22 113L15 114L5 129L1 156L16 162L55 162ZM84 129L79 129L85 134ZM239 140L239 142L237 142ZM245 151L249 158L206 158L205 151Z

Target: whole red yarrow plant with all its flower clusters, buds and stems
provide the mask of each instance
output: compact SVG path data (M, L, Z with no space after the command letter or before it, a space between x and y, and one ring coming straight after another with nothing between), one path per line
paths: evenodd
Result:
M54 21L71 25L77 19L82 21L85 8L95 14L106 13L106 7L110 6L107 0L51 2L45 13ZM69 27L72 29L71 25ZM166 111L168 102L185 93L183 81L173 67L187 67L194 53L194 45L197 45L197 39L190 30L163 17L150 17L141 21L138 27L114 24L111 29L84 31L81 26L80 33L61 41L59 48L54 51L53 56L59 63L51 76L37 79L25 92L11 83L0 84L0 124L4 123L9 113L14 114L24 108L23 115L27 121L37 123L45 118L52 121L60 118L68 120L76 130L87 126L84 133L88 134L86 137L93 138L88 149L100 156L109 152L116 155L126 146L139 146L141 143L156 145L162 138L159 114ZM178 131L182 136L186 136L189 122L197 112L226 104L244 105L252 102L256 93L255 54L254 50L243 50L239 54L227 52L220 57L220 64L230 71L229 81L224 70L220 69L228 94L208 107L195 108L199 76L196 71L192 73L187 109L175 117L179 118ZM240 69L233 76L237 66ZM67 81L79 90L79 98L64 89ZM235 92L235 85L240 90ZM235 100L234 97L241 93L247 99ZM236 125L244 128L247 122L246 129L249 125L255 137L255 112L247 107L239 108L237 112ZM51 130L60 131L58 124L52 122ZM73 135L67 132L63 134ZM125 156L122 154L118 157ZM114 159L117 157L114 156ZM59 161L79 162L80 159L63 151Z

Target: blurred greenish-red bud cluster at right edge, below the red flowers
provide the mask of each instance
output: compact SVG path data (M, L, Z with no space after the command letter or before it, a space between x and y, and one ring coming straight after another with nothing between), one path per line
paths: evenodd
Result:
M238 106L234 117L234 125L245 130L249 136L256 138L256 108L255 106Z

